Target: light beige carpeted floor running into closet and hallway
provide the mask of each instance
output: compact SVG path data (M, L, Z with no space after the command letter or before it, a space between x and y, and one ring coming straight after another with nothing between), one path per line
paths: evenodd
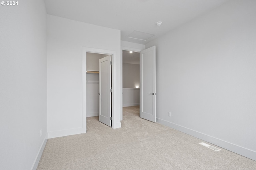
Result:
M256 170L256 161L200 142L124 107L122 128L87 117L87 133L48 139L37 170Z

